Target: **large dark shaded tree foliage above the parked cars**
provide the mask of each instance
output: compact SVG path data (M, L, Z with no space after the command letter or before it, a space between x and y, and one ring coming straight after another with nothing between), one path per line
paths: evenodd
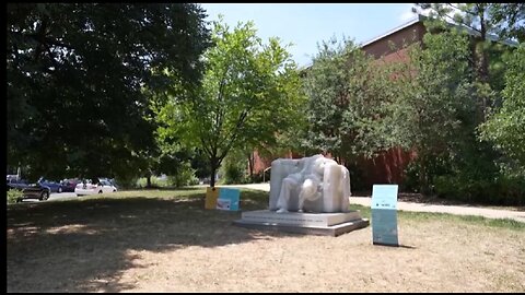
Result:
M136 174L154 145L141 87L167 87L151 71L161 64L198 82L205 16L185 3L9 3L8 165L34 177Z

